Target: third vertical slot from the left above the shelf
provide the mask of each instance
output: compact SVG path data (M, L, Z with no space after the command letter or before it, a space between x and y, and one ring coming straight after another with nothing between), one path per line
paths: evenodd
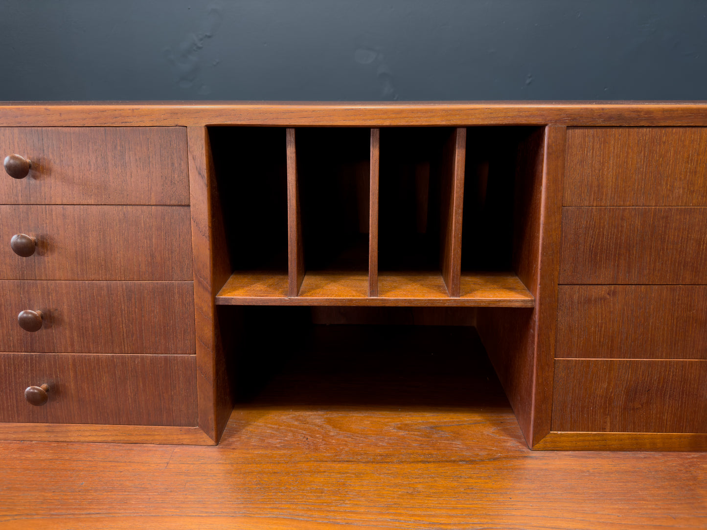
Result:
M458 290L464 135L463 128L380 130L381 298L449 298Z

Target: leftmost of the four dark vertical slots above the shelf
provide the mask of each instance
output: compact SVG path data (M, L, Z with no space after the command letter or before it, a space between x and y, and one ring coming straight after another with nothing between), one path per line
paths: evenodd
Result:
M209 127L209 141L233 271L221 294L284 297L288 271L285 129Z

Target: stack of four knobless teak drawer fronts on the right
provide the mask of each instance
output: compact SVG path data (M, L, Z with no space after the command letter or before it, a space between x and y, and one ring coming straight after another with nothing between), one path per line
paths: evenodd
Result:
M707 432L707 129L570 128L552 430Z

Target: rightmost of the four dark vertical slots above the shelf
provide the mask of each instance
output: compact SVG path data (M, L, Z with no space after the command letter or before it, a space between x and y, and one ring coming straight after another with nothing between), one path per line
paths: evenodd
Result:
M491 296L532 307L519 279L532 242L528 232L533 172L542 171L543 129L469 127L464 170L460 298ZM499 303L499 305L501 305Z

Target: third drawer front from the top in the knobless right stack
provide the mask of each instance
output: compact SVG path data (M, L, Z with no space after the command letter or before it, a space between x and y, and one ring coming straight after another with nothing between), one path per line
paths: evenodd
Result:
M557 358L707 359L706 285L560 285Z

